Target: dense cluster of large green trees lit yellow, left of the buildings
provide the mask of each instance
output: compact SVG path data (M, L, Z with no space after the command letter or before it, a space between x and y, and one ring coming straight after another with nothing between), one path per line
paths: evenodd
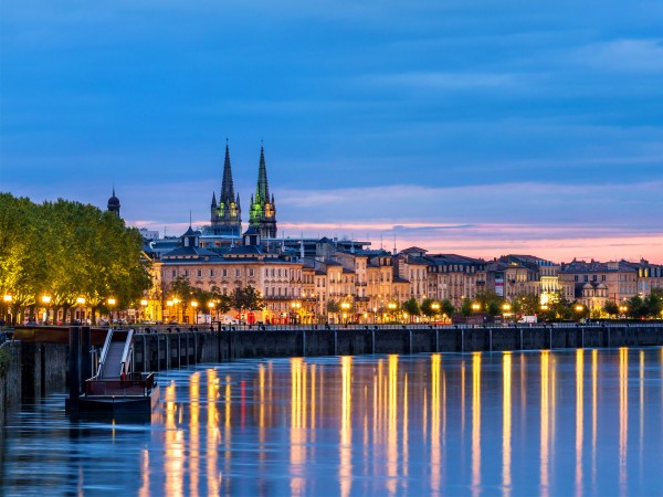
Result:
M0 295L3 314L21 322L25 309L108 310L137 307L151 278L143 237L112 212L59 199L41 204L0 193ZM50 302L44 304L43 296ZM84 304L81 299L85 299ZM0 313L2 314L2 313Z

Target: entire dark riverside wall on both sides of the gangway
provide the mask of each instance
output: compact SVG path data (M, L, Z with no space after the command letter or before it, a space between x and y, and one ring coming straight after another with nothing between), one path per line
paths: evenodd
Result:
M654 346L663 346L663 324L181 331L134 335L134 370L164 371L255 358ZM67 345L14 340L2 349L0 426L8 408L66 389L70 360Z

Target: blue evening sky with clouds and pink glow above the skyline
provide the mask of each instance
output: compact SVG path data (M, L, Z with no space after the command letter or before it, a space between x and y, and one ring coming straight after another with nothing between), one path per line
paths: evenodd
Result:
M0 191L181 234L663 264L663 3L0 2ZM262 140L262 141L261 141Z

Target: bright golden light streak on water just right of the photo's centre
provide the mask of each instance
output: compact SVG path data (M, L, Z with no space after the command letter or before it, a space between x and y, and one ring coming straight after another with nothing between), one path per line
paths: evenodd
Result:
M340 358L340 466L338 479L340 495L347 497L352 489L352 358Z

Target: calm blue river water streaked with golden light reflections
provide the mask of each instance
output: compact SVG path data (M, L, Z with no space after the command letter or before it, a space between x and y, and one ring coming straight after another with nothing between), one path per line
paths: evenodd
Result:
M0 438L3 495L663 495L663 349L248 360L159 374L147 424L64 393Z

